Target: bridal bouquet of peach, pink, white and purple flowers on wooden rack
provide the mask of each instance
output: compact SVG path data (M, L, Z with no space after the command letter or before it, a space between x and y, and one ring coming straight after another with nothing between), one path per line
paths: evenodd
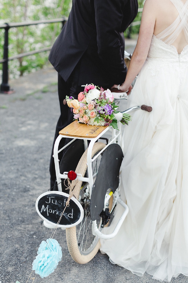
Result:
M104 90L93 84L84 87L84 91L78 94L78 99L66 96L67 105L74 113L74 119L87 125L112 125L114 129L118 129L117 121L128 125L131 116L116 110L118 106L115 105L110 89Z

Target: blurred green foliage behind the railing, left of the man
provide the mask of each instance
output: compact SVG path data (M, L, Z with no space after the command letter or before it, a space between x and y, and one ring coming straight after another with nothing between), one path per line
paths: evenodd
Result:
M71 0L5 0L0 4L0 23L17 23L68 16ZM31 25L9 29L9 57L54 43L62 23ZM0 29L0 59L3 58L4 29ZM9 77L16 78L42 68L48 63L49 51L9 61ZM0 64L2 69L2 64Z

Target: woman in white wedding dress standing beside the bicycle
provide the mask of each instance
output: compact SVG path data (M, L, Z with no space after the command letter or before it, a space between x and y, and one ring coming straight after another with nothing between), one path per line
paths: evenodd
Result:
M101 252L132 273L188 276L188 0L146 0L125 82L136 111L124 132L121 197L129 213ZM111 233L122 214L105 233Z

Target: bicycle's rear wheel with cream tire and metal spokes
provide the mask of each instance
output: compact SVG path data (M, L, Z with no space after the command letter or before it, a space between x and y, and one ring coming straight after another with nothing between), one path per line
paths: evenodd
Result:
M92 158L105 147L103 143L95 143L92 150ZM103 154L103 153L102 153ZM92 164L93 169L93 183L97 176L97 171L101 162L100 154ZM76 172L85 175L87 170L87 150L82 155ZM90 217L90 191L88 184L83 184L81 181L77 182L74 188L74 196L81 203L84 210L84 217L77 226L66 228L67 246L73 260L80 264L89 262L98 252L100 248L99 237L92 234L92 221ZM97 225L100 227L101 216L97 219Z

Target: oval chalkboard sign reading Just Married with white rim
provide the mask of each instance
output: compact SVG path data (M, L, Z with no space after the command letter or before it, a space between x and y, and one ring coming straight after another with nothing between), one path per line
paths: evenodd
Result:
M66 207L68 198L69 194L64 192L45 192L36 200L36 211L43 220L56 225ZM82 219L83 208L79 201L72 197L69 206L67 206L64 211L58 227L72 227L80 223Z

